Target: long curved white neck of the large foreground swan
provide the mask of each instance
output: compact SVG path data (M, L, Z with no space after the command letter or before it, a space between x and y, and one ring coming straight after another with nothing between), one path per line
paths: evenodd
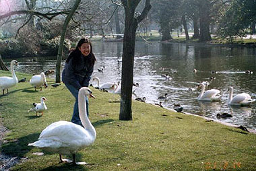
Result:
M92 134L93 137L96 137L96 131L92 126L92 123L90 123L86 113L86 96L84 96L82 93L78 94L78 109L82 125Z

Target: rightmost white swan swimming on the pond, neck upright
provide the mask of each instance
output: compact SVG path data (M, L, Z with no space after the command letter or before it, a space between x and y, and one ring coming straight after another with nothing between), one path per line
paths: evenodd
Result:
M255 99L251 99L251 96L247 93L237 94L233 98L233 88L229 87L229 99L228 104L236 106L249 106L252 102L255 102Z

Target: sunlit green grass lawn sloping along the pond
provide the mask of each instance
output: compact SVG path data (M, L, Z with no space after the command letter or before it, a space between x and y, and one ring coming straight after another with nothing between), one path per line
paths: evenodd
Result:
M0 71L0 76L11 75ZM17 73L18 78L32 75ZM0 96L0 116L9 131L1 151L27 158L11 170L255 170L256 135L203 118L170 112L152 104L133 101L133 121L119 121L119 95L94 88L90 121L97 133L95 143L77 153L86 166L59 164L59 155L28 147L55 121L70 121L74 98L64 84L34 91L29 82L18 83ZM48 110L43 116L28 112L40 97ZM71 158L71 156L65 156Z

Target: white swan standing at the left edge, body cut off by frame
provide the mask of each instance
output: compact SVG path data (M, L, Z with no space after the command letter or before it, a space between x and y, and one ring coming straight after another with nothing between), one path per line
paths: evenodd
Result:
M5 94L5 89L7 90L7 94L8 94L9 93L8 88L11 88L18 83L18 78L15 75L13 65L18 65L18 62L15 60L11 61L10 68L11 68L12 77L7 77L7 76L0 77L0 89L3 91L3 95Z

